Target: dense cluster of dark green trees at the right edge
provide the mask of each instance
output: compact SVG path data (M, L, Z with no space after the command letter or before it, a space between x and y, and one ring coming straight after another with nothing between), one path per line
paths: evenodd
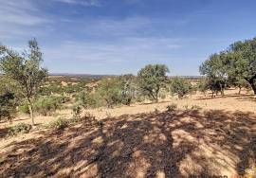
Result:
M244 42L236 42L226 51L216 53L201 64L199 71L206 76L200 89L210 89L224 96L227 86L239 88L251 87L256 94L256 38Z

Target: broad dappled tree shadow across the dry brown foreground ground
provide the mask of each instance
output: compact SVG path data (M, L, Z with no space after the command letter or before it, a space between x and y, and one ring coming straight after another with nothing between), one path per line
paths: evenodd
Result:
M255 160L252 113L174 111L84 121L9 144L0 177L190 177L244 174Z

